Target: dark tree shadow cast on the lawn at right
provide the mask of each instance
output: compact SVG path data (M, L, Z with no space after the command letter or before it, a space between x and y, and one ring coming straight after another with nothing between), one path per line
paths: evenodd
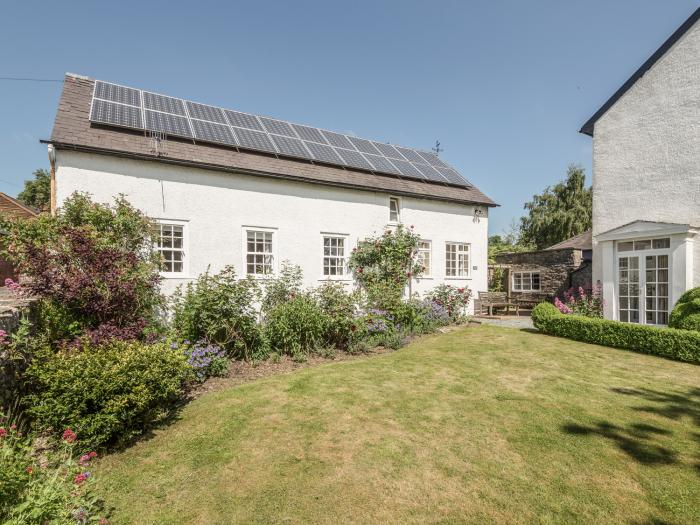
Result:
M673 421L688 418L700 428L700 388L687 392L662 392L648 388L611 388L612 392L646 401L648 404L632 407L638 412L655 414ZM670 430L648 423L633 423L627 426L615 425L609 421L599 421L594 425L567 423L562 429L572 435L600 436L613 441L620 450L644 465L678 464L676 452L656 442L661 436L670 436ZM700 433L693 433L700 443ZM700 474L700 457L694 465Z

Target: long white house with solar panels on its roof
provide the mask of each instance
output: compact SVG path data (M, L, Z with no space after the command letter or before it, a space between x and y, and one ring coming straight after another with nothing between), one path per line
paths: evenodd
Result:
M234 265L266 278L298 264L307 286L351 282L359 239L420 233L412 283L487 289L493 201L430 152L68 74L49 144L52 207L118 194L160 228L164 291Z

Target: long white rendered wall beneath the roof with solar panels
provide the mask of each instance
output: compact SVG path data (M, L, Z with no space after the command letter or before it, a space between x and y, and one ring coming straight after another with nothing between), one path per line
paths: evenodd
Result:
M298 264L306 286L323 277L322 232L345 234L349 248L389 222L389 194L335 188L265 177L230 174L61 150L57 156L57 202L75 191L96 201L112 202L118 194L155 219L183 221L187 276L167 278L163 291L172 293L211 267L217 272L234 265L244 272L244 227L271 228L276 258ZM474 220L474 205L400 197L401 222L413 225L432 241L430 278L413 283L419 293L447 282L475 292L487 289L488 210ZM471 244L471 277L445 277L445 242ZM476 269L474 269L476 267Z

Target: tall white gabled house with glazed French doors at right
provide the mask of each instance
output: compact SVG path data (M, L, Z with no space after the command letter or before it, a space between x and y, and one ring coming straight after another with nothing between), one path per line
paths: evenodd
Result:
M584 124L605 317L664 325L700 286L700 9Z

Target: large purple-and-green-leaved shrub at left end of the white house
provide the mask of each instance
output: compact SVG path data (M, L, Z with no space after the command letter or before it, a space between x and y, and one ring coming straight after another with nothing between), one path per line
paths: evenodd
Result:
M75 193L56 215L4 219L3 255L41 299L52 340L142 338L163 306L153 223L120 197L113 206Z

